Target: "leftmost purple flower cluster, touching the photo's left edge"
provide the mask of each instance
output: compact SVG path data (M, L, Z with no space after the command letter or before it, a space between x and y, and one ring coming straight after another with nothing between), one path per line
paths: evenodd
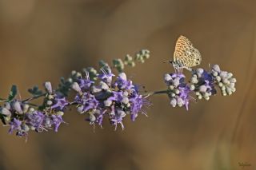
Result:
M17 136L28 136L28 132L47 131L54 128L58 132L58 127L64 123L63 111L68 105L65 97L59 97L52 89L50 82L46 82L46 93L44 94L44 104L39 109L31 107L30 99L20 101L11 99L6 101L0 108L1 119L4 125L10 125L9 132L15 132Z

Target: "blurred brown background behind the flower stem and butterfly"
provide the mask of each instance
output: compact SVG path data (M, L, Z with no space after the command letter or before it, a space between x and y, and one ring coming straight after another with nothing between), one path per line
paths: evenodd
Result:
M26 89L150 49L150 60L129 77L147 90L164 89L164 73L180 34L202 53L202 66L219 64L237 77L237 92L173 109L151 99L149 117L125 121L114 132L84 121L74 110L59 132L29 140L0 128L0 169L256 169L256 2L254 0L1 0L0 95Z

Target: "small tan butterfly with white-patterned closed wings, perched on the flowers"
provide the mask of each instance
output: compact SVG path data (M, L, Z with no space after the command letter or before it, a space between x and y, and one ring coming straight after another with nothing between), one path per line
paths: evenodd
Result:
M187 69L191 71L191 67L200 65L202 57L198 49L185 36L180 36L176 42L174 50L174 60L169 61L175 70L182 71Z

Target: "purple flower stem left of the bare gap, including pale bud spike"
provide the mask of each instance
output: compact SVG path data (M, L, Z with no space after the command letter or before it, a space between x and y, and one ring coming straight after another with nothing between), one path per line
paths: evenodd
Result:
M110 66L105 61L100 61L100 73L93 67L83 69L82 73L72 71L67 79L61 78L58 89L52 89L50 82L44 83L45 90L38 89L38 86L29 89L32 97L21 100L18 99L18 89L13 85L10 95L7 99L0 98L3 103L0 106L0 118L4 125L9 126L9 132L15 132L16 136L27 138L30 131L45 132L58 128L62 123L66 108L75 105L78 113L88 114L86 121L90 124L102 126L104 117L110 120L111 125L118 125L124 128L123 120L130 116L132 121L138 117L138 113L146 115L144 106L150 105L146 96L138 90L138 85L134 85L128 80L126 73L123 73L124 65L135 65L135 61L143 63L149 58L149 51L142 51L131 57L126 55L122 59L114 59L114 68L119 74L115 81L112 81L115 75ZM74 89L77 93L73 100L67 101L70 90ZM43 92L44 91L44 92ZM32 101L42 97L42 105L35 105Z

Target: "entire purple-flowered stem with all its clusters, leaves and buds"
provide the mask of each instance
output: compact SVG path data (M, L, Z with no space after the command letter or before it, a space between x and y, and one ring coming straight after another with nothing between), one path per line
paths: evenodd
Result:
M144 63L150 57L150 51L142 49L134 57L129 54L124 60L113 60L113 67L117 69L117 76L112 73L110 65L100 61L100 71L93 67L83 69L82 73L72 71L67 79L61 78L57 89L53 89L49 81L44 83L44 90L38 86L29 89L32 97L26 100L18 98L18 89L13 85L10 95L6 99L0 98L0 119L3 125L9 126L9 132L27 138L30 131L46 132L58 128L63 123L64 113L70 105L77 108L78 113L86 114L86 121L90 125L102 127L103 121L108 119L114 129L118 125L124 129L125 117L135 121L139 113L146 115L144 108L150 106L147 97L165 93L170 98L173 107L189 109L191 100L205 99L217 93L216 87L221 89L222 95L231 95L235 92L236 79L232 73L222 71L218 65L213 65L210 71L205 69L192 70L190 81L185 81L183 73L166 73L164 80L166 90L141 93L139 86L130 81L123 69L126 65L135 66L135 62ZM69 97L73 89L75 97ZM34 100L42 97L42 104L36 105Z

